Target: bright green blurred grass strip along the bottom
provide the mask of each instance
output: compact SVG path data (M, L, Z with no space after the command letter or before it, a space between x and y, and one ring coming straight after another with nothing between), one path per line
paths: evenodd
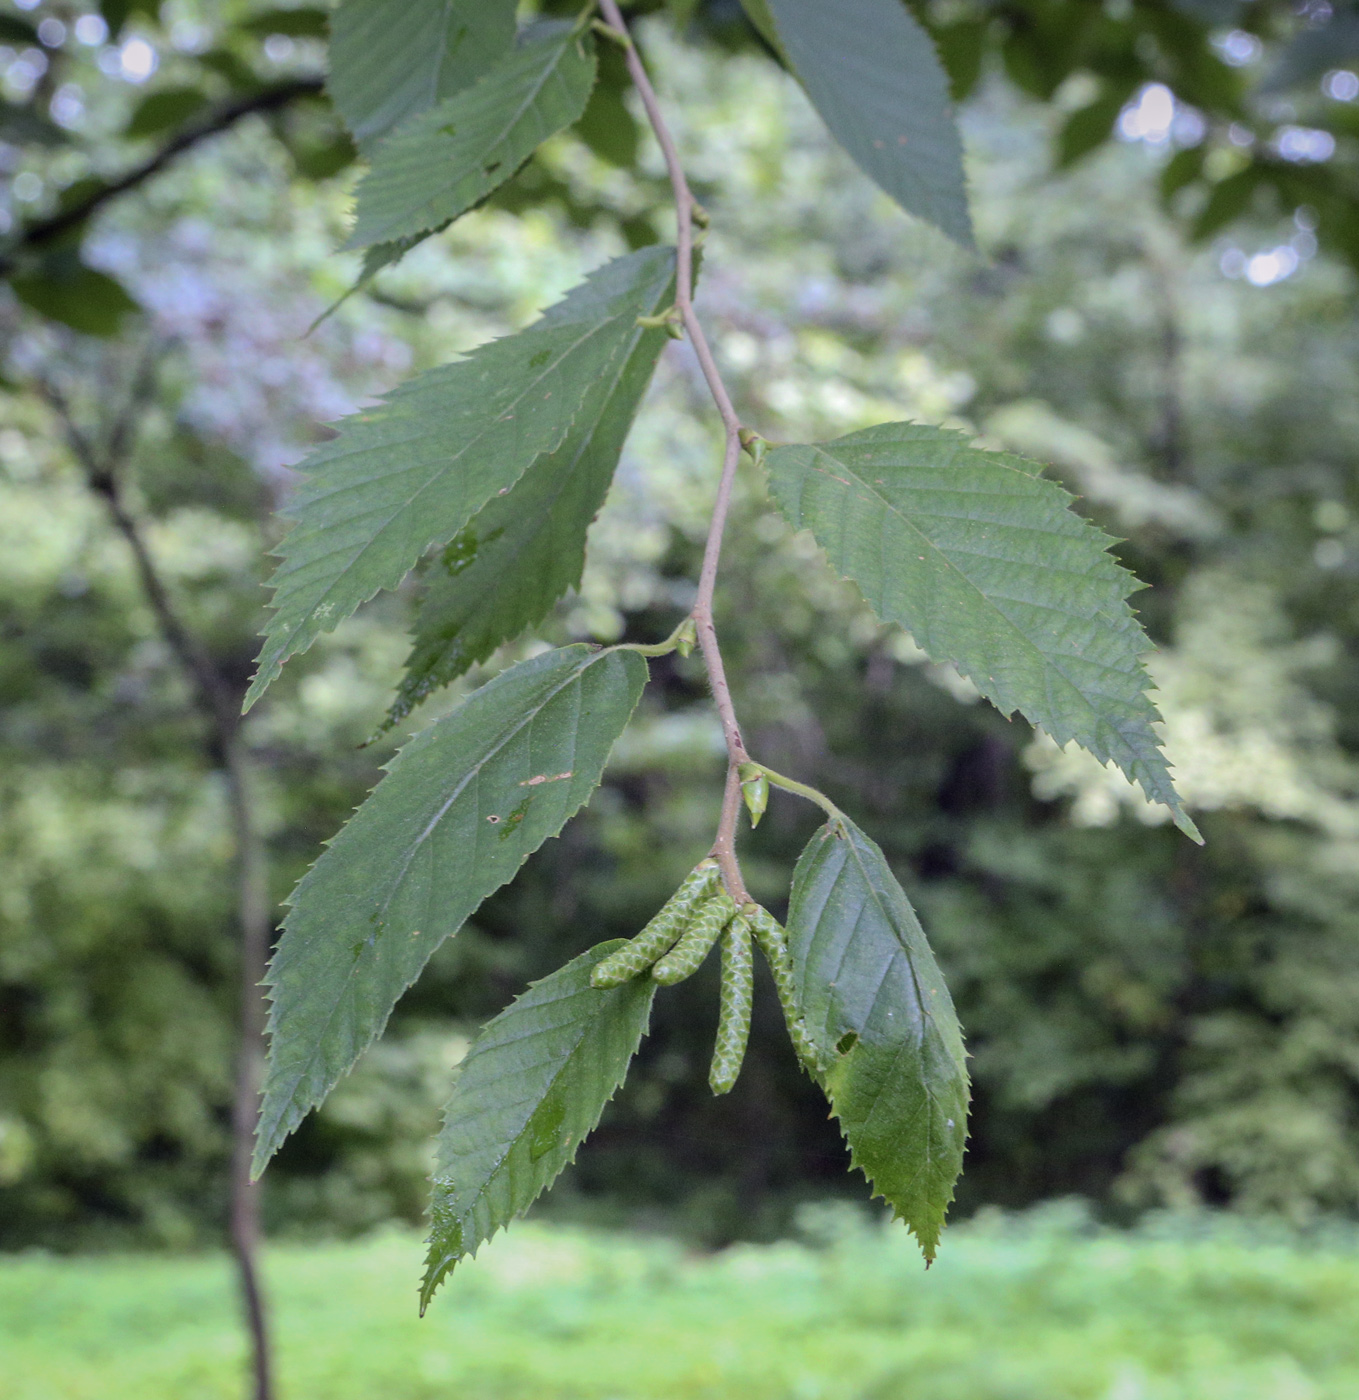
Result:
M959 1226L686 1253L523 1225L421 1322L410 1236L270 1250L281 1400L1355 1400L1359 1249ZM242 1394L220 1257L0 1259L3 1400Z

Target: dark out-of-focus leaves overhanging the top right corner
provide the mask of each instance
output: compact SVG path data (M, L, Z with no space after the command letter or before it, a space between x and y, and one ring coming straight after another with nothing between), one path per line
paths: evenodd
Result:
M1043 102L1073 77L1087 84L1057 133L1059 168L1111 140L1127 104L1159 83L1199 119L1162 174L1162 195L1192 238L1241 217L1304 209L1323 245L1359 266L1359 120L1352 98L1321 83L1359 60L1359 14L1351 6L971 0L946 8L932 32L956 97L973 90L990 53ZM1299 125L1330 136L1331 154L1299 155L1288 140Z

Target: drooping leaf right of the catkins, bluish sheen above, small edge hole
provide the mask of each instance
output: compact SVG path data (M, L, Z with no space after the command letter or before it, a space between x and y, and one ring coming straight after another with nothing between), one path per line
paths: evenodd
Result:
M883 853L848 818L808 843L788 944L854 1165L932 1260L967 1141L967 1064L949 988Z

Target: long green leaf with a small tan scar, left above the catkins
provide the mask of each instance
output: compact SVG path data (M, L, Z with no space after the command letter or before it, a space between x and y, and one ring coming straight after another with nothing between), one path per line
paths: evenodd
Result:
M293 896L256 1170L382 1033L430 955L599 784L647 664L564 647L512 666L418 734Z

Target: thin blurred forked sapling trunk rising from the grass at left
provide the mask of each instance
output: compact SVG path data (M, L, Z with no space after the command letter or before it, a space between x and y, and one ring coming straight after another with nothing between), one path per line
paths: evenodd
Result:
M265 1296L259 1280L259 1187L251 1180L251 1147L259 1116L259 1086L265 1063L265 1004L260 984L269 963L273 916L265 843L255 825L251 801L251 762L241 743L239 696L217 669L189 626L179 616L161 578L141 525L129 510L122 472L132 455L140 410L155 392L157 354L147 350L123 412L113 420L102 444L87 434L62 389L49 379L34 385L62 424L71 455L80 463L90 490L108 510L137 567L141 589L165 644L189 680L195 707L207 721L211 759L227 778L227 804L237 854L237 921L241 935L241 1011L237 1077L231 1105L231 1252L237 1260L246 1326L251 1334L251 1372L255 1400L272 1400L273 1368Z

